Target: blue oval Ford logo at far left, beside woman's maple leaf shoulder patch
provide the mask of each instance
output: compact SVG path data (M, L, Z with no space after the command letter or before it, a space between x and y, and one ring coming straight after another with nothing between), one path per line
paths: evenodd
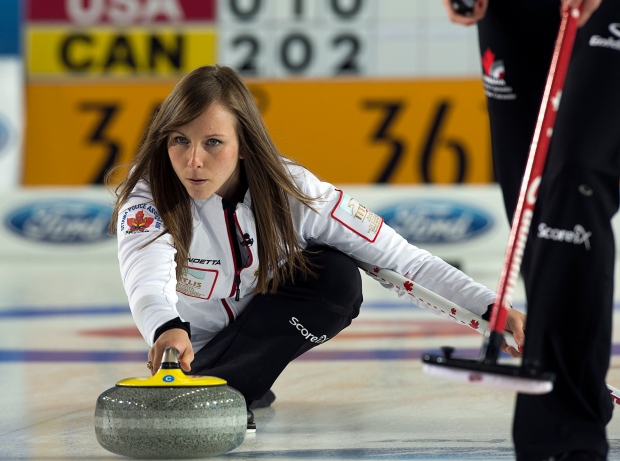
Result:
M109 238L111 216L108 205L59 198L21 205L7 213L5 225L19 236L39 242L95 243Z

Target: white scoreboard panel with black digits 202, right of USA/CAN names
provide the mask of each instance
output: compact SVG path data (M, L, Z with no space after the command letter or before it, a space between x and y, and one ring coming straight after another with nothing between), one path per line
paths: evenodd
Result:
M475 30L441 0L221 0L219 58L246 75L479 74Z

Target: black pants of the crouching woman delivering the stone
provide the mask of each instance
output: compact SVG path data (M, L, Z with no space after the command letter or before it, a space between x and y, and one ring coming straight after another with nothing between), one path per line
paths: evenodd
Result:
M351 324L362 304L357 265L327 247L306 255L318 277L304 280L298 274L294 284L254 297L195 354L191 374L225 379L249 404L265 395L292 360Z

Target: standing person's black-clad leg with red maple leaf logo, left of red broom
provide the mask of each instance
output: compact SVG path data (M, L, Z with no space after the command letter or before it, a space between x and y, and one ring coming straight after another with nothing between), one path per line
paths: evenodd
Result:
M492 0L478 23L493 170L509 221L551 64L559 4L559 0Z

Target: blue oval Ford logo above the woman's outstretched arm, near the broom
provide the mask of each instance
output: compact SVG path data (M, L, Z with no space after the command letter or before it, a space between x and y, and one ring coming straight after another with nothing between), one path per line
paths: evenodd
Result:
M460 243L480 236L493 226L490 214L448 200L404 202L377 214L415 245Z

